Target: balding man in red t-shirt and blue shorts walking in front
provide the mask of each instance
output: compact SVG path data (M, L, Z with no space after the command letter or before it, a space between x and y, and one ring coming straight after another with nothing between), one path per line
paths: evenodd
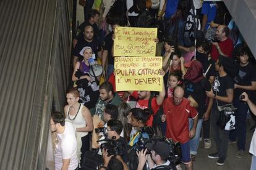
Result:
M173 98L164 99L162 121L166 121L167 124L165 136L173 139L174 142L181 143L181 162L186 165L186 169L192 169L189 139L195 136L198 112L194 107L190 106L189 100L183 96L184 89L177 86L174 89ZM190 131L189 118L193 119L193 127Z

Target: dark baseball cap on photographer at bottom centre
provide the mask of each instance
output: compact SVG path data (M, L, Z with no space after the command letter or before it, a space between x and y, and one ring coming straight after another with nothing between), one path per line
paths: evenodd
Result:
M167 142L155 142L155 144L148 143L147 148L149 150L155 151L155 153L157 153L164 159L169 158L171 154L171 148Z

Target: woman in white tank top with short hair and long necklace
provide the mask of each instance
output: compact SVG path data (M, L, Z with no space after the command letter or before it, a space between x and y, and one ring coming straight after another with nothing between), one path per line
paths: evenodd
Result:
M81 105L79 101L79 91L77 89L67 90L67 103L64 111L67 121L75 127L77 137L77 157L81 158L84 153L90 149L90 140L88 132L93 130L92 115L87 107Z

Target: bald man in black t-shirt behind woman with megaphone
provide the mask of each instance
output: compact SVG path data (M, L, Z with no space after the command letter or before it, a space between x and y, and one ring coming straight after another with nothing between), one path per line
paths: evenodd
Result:
M83 56L80 54L80 51L82 51L83 47L91 47L93 50L92 58L94 60L97 60L98 57L101 59L101 46L98 39L94 38L94 32L93 28L90 25L85 26L85 30L83 32L84 37L83 39L80 39L79 42L77 42L77 45L74 49L74 60L73 60L73 67L75 68L75 63L79 60L83 60Z

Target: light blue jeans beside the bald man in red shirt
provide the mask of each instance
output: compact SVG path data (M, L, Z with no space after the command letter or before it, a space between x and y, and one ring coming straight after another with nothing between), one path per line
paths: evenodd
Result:
M195 129L195 136L189 140L190 154L197 155L197 148L199 145L200 132L202 129L203 119L198 119L197 129ZM189 118L189 129L193 127L193 119Z

